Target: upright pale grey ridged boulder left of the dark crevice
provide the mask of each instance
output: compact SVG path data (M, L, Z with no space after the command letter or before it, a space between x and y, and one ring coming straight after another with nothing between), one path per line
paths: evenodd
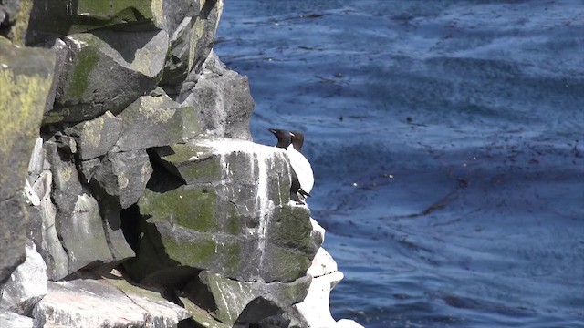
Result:
M67 137L67 136L65 136ZM67 139L67 138L66 138ZM123 238L120 227L120 212L110 209L98 201L87 185L81 184L75 165L74 149L68 143L48 140L45 142L47 160L53 177L53 197L57 209L55 227L58 240L68 255L68 272L71 274L86 266L122 261L134 255ZM41 202L42 205L42 202ZM50 207L49 204L47 206ZM116 210L115 208L113 210ZM103 213L103 216L102 216ZM50 212L47 212L50 215ZM43 224L51 218L43 218ZM106 223L106 224L104 224ZM52 240L51 231L43 236ZM64 275L61 254L56 245L45 249L41 254L47 261L51 279L62 279ZM50 262L49 260L59 260ZM55 274L55 275L54 275Z

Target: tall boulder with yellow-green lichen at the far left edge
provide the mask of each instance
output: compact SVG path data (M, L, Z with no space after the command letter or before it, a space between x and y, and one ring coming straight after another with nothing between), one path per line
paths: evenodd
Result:
M25 260L22 190L53 80L55 55L13 46L0 36L0 283Z

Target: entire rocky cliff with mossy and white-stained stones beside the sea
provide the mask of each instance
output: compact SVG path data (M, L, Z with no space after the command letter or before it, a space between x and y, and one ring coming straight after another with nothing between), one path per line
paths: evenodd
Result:
M212 51L223 5L0 1L0 326L356 325Z

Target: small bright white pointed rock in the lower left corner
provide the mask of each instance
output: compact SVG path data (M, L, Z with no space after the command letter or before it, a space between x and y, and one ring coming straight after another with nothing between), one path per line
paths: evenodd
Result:
M18 314L28 314L47 294L47 265L31 242L26 245L26 261L20 264L2 288L0 307Z

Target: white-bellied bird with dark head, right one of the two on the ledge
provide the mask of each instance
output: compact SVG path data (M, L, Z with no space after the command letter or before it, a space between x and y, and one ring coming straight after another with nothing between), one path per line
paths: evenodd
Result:
M310 197L310 191L314 186L314 173L308 159L300 152L304 145L304 135L298 131L290 131L291 143L287 146L287 154L290 158L290 166L297 174L300 189L298 193L306 200Z

